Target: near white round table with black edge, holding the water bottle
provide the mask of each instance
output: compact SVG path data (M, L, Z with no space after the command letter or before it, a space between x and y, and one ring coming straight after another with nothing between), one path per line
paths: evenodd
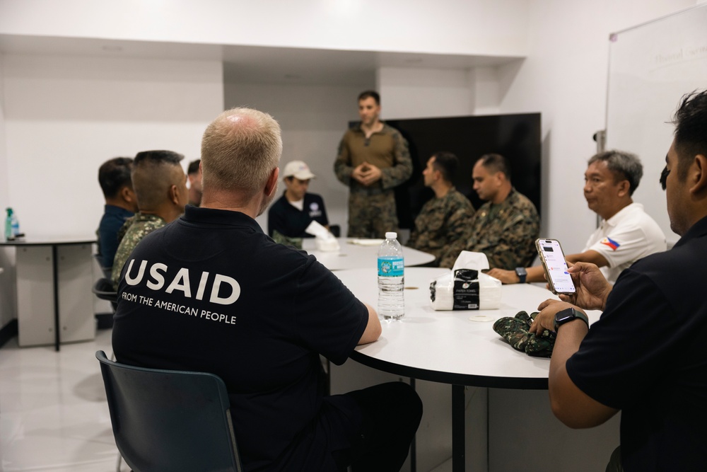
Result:
M384 372L452 385L452 470L464 470L464 386L547 389L549 359L510 347L493 321L537 311L554 295L532 284L503 285L497 310L434 311L429 284L447 269L405 269L405 316L383 323L375 343L356 347L351 359ZM358 299L376 306L375 268L334 272ZM590 311L596 321L599 311ZM493 321L474 321L490 318Z

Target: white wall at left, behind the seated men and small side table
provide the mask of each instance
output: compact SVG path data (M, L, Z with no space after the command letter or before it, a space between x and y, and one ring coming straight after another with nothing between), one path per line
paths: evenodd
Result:
M223 110L220 62L8 55L4 64L8 204L30 237L91 236L98 167L170 149L199 158Z

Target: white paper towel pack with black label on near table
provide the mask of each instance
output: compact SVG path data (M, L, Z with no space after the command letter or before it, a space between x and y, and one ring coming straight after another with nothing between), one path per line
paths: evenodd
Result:
M501 281L473 269L459 269L430 284L434 310L492 310L501 307Z

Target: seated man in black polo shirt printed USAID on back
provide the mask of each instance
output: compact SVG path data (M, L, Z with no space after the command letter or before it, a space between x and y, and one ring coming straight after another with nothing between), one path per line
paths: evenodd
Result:
M412 388L325 396L322 382L320 355L343 364L378 339L378 315L255 221L275 195L281 153L279 125L257 110L228 110L206 128L201 207L129 256L115 356L220 376L246 471L398 471L422 414Z

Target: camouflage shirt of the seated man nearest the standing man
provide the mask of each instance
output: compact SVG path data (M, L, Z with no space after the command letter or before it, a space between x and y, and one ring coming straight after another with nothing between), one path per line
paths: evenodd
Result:
M452 187L444 197L434 197L423 205L407 246L433 254L433 265L438 265L448 244L469 238L473 216L472 202Z

